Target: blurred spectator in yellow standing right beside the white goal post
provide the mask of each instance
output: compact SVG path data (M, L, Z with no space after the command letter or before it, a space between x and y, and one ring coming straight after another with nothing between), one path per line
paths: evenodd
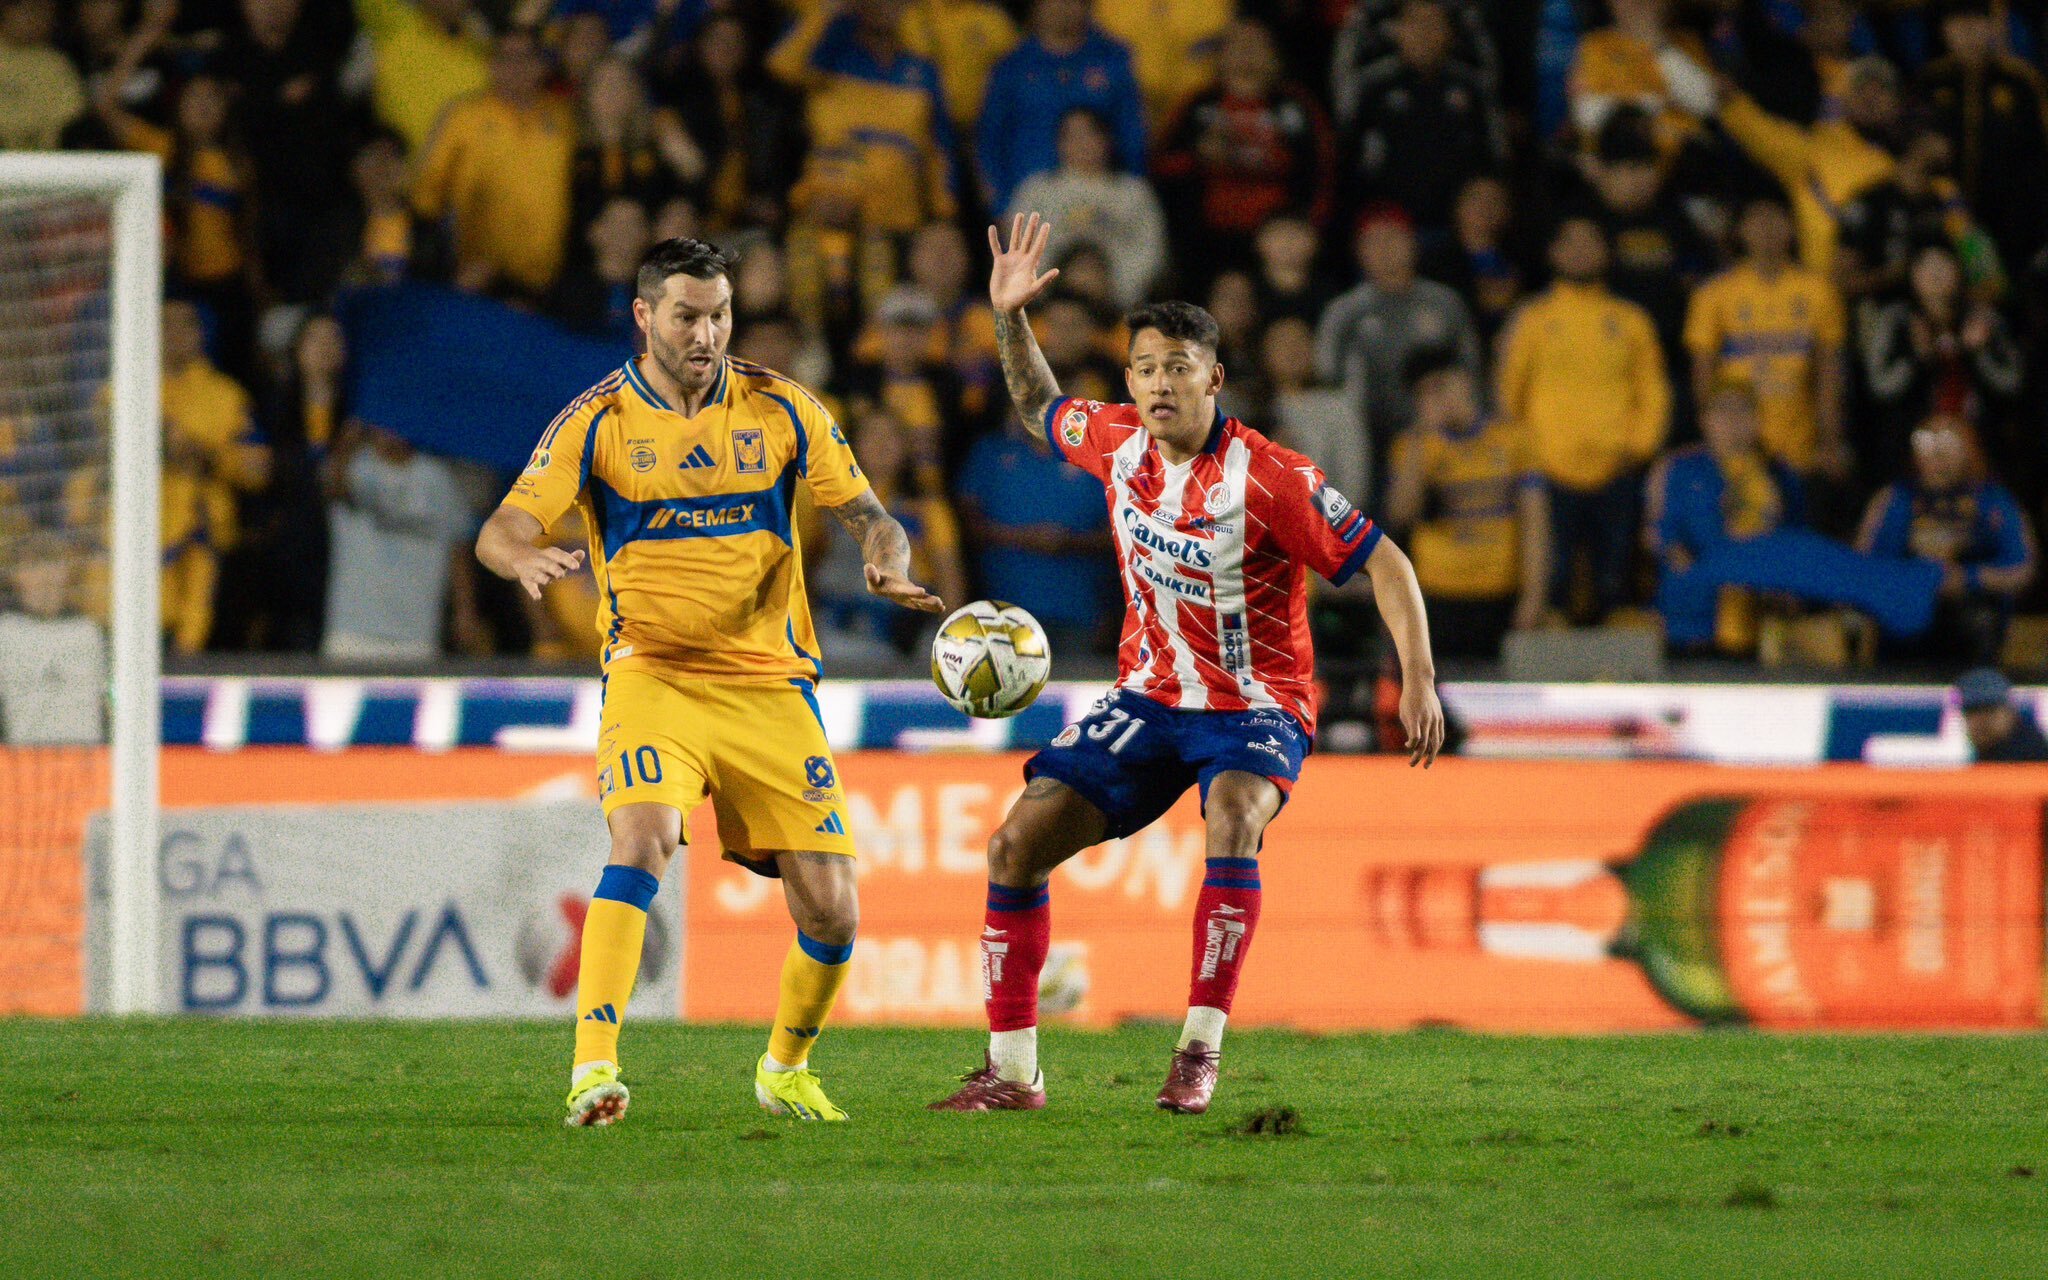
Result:
M240 535L238 494L270 477L250 393L207 360L193 303L164 303L164 633L174 653L199 653L213 635L221 555Z

